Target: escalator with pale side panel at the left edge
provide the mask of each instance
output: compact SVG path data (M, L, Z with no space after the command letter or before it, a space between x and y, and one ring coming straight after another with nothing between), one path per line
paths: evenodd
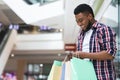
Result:
M4 29L0 31L0 75L16 42L16 34L16 30Z

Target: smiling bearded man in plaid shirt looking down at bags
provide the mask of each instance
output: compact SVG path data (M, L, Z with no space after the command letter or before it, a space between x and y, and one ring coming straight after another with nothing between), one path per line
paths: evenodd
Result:
M80 4L74 10L77 24L82 29L78 36L74 56L89 59L94 65L98 80L116 80L113 59L116 54L116 34L94 19L92 8Z

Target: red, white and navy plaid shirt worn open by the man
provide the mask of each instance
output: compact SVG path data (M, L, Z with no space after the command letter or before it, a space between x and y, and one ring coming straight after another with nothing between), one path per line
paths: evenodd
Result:
M116 54L116 34L108 26L95 22L92 25L93 33L89 42L90 52L100 52L107 50L107 52L115 56ZM84 39L84 32L81 31L78 36L77 50L82 51L82 43ZM116 80L113 60L91 60L98 80Z

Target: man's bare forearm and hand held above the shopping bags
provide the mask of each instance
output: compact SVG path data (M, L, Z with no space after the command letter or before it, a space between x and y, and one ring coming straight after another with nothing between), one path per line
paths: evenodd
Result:
M80 58L89 58L89 59L95 59L95 60L112 60L114 57L107 53L107 51L101 51L96 53L87 53L87 52L77 52L76 53L78 57Z

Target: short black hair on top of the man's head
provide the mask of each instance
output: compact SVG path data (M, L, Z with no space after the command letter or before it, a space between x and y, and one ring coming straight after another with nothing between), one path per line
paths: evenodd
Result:
M94 13L92 8L88 4L80 4L74 9L74 14L77 15L79 13L91 13L94 17Z

